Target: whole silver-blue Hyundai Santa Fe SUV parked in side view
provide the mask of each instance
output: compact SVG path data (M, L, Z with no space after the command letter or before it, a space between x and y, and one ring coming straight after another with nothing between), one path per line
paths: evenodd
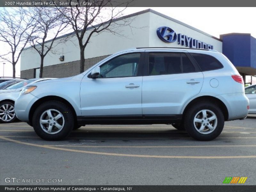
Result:
M206 141L248 109L243 79L223 54L179 48L118 52L77 76L28 86L15 102L45 140L85 124L172 124Z

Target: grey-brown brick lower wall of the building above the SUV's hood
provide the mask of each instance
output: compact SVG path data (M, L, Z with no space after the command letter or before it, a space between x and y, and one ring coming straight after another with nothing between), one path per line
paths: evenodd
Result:
M92 67L94 64L98 63L100 60L105 59L106 57L108 57L108 55L86 59L84 70ZM43 69L43 77L70 77L80 74L79 70L80 60L60 63L57 65L45 66ZM34 69L20 71L20 77L28 79L34 78Z

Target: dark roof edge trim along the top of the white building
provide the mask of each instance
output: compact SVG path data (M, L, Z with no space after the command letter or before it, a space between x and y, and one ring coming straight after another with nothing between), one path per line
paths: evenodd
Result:
M214 39L216 39L216 40L222 42L221 39L219 39L219 38L217 38L217 37L215 37L215 36L212 36L212 35L210 35L210 34L208 34L208 33L205 33L204 31L201 31L201 30L199 30L199 29L197 29L197 28L194 28L194 27L192 27L192 26L190 26L190 25L188 25L188 24L186 24L186 23L183 23L183 22L181 22L181 21L179 21L179 20L173 19L172 17L169 17L169 16L167 16L167 15L164 15L164 14L162 14L162 13L160 13L160 12L157 12L157 11L155 11L155 10L152 10L152 9L145 9L145 10L142 10L142 11L139 11L139 12L135 12L135 13L132 13L132 14L129 14L129 15L124 15L124 16L122 16L122 17L119 17L119 18L116 18L116 19L112 20L112 22L116 22L116 21L119 21L119 20L127 19L127 18L129 18L129 17L134 17L134 16L141 15L141 14L144 14L144 13L147 13L147 12L151 12L151 13L154 13L154 14L156 14L156 15L158 15L158 16L164 17L164 18L166 18L166 19L168 19L168 20L172 20L172 21L174 21L174 22L176 22L176 23L179 23L180 25L183 25L183 26L185 26L185 27L188 27L188 28L190 28L190 29L193 29L193 30L195 30L195 31L197 31L197 32L199 32L199 33L202 33L202 34L204 34L204 35L206 35L206 36L212 37L212 38L214 38ZM95 25L94 27L98 27L99 25L100 25L100 24L97 24L97 25ZM88 27L86 30L90 30L90 29L92 29L92 28L93 28L93 27ZM63 38L63 37L67 37L67 36L70 36L70 35L74 35L74 34L75 34L75 32L71 32L71 33L68 33L68 34L65 34L65 35L56 37L55 40L58 40L58 39L61 39L61 38ZM52 41L52 39L47 40L47 41L45 41L44 43L48 43L48 42L51 42L51 41ZM37 46L37 45L38 45L38 44L36 44L36 46ZM26 48L24 48L24 50L30 49L31 47L32 47L32 46L26 47Z

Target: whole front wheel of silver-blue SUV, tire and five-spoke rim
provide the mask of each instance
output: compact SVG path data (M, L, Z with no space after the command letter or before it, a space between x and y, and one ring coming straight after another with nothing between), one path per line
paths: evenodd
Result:
M74 116L66 104L47 101L35 110L33 127L44 140L62 140L73 130Z

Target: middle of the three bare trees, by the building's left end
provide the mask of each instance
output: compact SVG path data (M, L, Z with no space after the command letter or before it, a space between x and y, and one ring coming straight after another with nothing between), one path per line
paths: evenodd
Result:
M31 36L30 44L41 58L40 74L43 76L44 57L54 48L54 42L61 32L65 31L68 23L64 22L62 14L56 8L34 7L28 12L30 17L36 15L36 33ZM47 41L48 38L52 38ZM64 41L64 39L62 39Z

